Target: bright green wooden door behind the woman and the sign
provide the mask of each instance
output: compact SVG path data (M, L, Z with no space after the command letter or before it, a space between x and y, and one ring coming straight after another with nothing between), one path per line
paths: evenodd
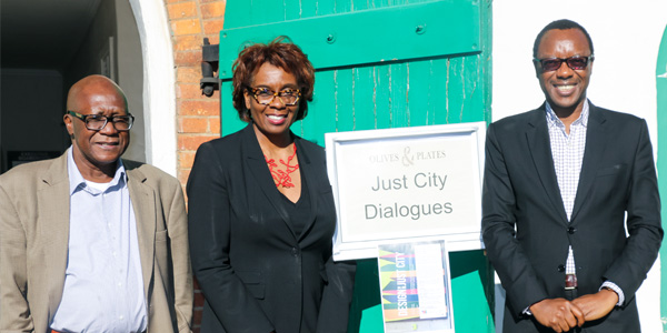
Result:
M233 0L220 32L221 133L243 127L231 63L247 42L288 36L317 70L308 117L323 134L490 120L491 0ZM482 251L450 253L458 332L494 332L494 273ZM382 332L376 260L358 261L349 332Z

